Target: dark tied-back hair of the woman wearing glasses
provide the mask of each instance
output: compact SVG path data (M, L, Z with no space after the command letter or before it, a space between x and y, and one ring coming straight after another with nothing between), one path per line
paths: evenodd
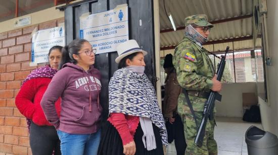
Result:
M61 69L65 63L77 63L77 61L73 58L73 54L78 54L78 51L81 49L84 42L88 41L85 39L74 39L69 43L69 45L62 48L62 59L59 64L59 69Z

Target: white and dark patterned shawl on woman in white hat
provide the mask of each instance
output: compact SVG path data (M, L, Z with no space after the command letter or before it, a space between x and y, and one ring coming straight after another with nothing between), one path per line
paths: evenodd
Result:
M160 129L162 143L168 145L167 131L156 93L148 76L118 69L109 82L109 114L123 113L150 118Z

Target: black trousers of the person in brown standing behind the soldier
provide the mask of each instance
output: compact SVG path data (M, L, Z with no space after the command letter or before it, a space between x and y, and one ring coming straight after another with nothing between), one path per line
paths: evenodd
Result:
M168 142L172 143L175 140L175 147L177 155L184 155L187 148L186 138L184 137L183 123L180 116L177 114L174 116L175 121L171 124L166 122L166 128L168 133Z

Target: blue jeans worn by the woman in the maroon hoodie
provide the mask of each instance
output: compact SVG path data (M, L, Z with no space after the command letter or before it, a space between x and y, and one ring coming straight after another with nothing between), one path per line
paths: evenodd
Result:
M62 155L97 155L101 140L101 129L91 134L71 134L57 131L61 140Z

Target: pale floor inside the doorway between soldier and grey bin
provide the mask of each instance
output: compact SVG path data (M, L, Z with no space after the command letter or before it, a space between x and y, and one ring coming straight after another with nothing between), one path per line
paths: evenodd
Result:
M217 117L217 127L214 130L214 138L218 145L218 155L248 155L245 143L245 132L255 125L262 128L260 123L244 122L242 118ZM167 155L174 155L174 142L169 145Z

